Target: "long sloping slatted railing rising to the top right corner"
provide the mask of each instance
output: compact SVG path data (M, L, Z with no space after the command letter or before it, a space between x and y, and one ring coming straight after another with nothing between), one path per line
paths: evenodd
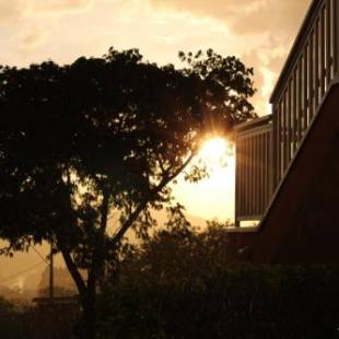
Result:
M338 72L338 0L313 1L271 96L276 186Z

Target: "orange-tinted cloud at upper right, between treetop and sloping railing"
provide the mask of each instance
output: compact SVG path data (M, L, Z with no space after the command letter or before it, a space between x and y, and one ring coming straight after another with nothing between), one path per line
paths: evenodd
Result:
M225 24L231 35L246 40L238 50L254 67L258 89L254 105L259 115L269 112L268 96L287 59L309 0L149 0L159 10L188 12ZM255 47L254 47L255 45ZM232 54L232 52L231 52Z

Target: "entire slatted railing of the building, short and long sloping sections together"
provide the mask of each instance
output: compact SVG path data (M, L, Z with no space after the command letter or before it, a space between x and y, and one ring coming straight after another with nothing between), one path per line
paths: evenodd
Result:
M270 98L236 128L235 221L260 220L339 70L339 0L314 0Z

